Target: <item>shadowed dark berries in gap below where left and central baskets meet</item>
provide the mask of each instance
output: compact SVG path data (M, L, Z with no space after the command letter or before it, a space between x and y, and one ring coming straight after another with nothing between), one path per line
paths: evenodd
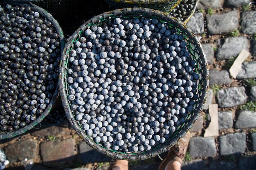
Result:
M50 113L43 119L43 124L59 124L64 121L65 111L62 105L53 108Z

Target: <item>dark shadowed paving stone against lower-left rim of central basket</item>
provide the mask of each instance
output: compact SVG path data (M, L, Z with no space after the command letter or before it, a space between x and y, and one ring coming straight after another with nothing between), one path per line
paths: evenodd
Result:
M79 153L81 157L81 161L84 164L94 163L94 162L106 162L111 161L110 157L103 155L100 152L97 152L90 146L88 146L84 141L79 143Z

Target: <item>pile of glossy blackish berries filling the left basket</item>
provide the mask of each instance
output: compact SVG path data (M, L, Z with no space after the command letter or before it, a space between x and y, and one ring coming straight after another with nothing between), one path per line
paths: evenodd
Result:
M0 130L36 120L58 79L60 40L52 22L31 7L0 6Z

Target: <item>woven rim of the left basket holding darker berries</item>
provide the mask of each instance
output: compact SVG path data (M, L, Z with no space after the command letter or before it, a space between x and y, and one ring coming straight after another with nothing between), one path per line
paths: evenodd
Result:
M44 9L31 4L31 3L20 3L20 2L0 2L0 4L12 4L12 5L18 5L18 6L30 6L34 11L40 13L41 16L43 16L44 18L47 18L49 21L52 22L53 26L56 27L56 31L58 33L58 35L60 36L60 42L61 42L61 52L63 51L63 48L65 46L65 41L64 41L64 36L63 36L63 32L61 27L59 26L58 22L53 18L53 16L48 13L47 11L45 11ZM34 128L34 126L36 126L36 124L40 123L48 114L49 112L52 110L52 108L55 106L55 104L59 101L59 93L58 93L58 84L56 86L56 90L54 92L54 95L52 97L51 102L49 103L49 105L47 106L47 108L45 108L44 112L37 117L36 120L32 121L30 124L28 124L27 126L17 129L17 130L13 130L11 132L0 132L0 140L1 139L10 139L12 137L15 137L17 135L21 135L25 132L27 132L28 130Z

